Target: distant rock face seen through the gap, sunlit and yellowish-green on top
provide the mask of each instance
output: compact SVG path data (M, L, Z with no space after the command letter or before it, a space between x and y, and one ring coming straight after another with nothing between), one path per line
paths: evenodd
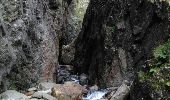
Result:
M82 27L82 22L89 0L72 0L65 8L65 21L60 36L60 64L72 64L75 53L75 40ZM68 8L67 8L68 7Z

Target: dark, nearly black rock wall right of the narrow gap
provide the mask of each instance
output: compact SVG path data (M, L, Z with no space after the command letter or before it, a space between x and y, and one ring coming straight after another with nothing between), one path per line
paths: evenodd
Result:
M77 72L105 87L126 80L134 86L131 100L149 100L147 90L138 89L137 72L169 36L168 9L169 3L159 0L90 1L75 45Z

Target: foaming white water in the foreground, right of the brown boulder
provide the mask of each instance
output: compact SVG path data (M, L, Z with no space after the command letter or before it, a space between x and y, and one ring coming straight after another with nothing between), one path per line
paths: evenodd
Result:
M99 100L102 99L107 94L107 92L107 90L93 91L88 93L87 96L83 98L83 100Z

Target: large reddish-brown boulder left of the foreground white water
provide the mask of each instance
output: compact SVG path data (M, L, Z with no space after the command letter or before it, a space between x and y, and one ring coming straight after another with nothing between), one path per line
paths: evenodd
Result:
M65 84L56 84L52 88L52 95L58 100L81 100L84 87L75 82L65 82Z

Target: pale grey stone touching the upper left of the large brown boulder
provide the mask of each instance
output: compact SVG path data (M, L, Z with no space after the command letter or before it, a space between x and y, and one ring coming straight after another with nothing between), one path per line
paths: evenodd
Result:
M51 90L55 86L55 83L52 82L41 82L38 86L38 90Z

